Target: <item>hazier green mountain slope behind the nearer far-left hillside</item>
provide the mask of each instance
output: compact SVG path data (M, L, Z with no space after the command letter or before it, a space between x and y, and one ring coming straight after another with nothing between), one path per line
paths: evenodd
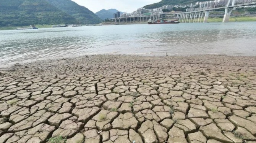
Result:
M81 24L97 24L102 20L92 11L84 6L80 6L71 0L46 0L58 9L70 14L77 19Z

